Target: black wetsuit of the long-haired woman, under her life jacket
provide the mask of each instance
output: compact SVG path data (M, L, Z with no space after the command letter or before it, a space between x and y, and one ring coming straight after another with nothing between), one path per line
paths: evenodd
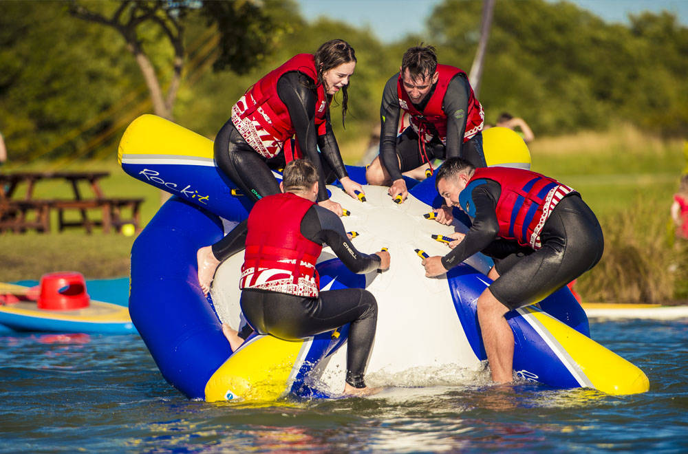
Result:
M317 96L314 89L309 88L312 84L313 81L305 74L288 72L277 81L277 95L289 111L303 157L318 169L318 202L322 202L328 198L325 184L347 176L347 171L332 132L329 111L327 132L323 136L317 135L314 122ZM318 153L318 147L322 153ZM264 158L244 140L231 118L215 138L215 162L253 202L279 193L279 184L271 169L284 168L284 153L269 160Z

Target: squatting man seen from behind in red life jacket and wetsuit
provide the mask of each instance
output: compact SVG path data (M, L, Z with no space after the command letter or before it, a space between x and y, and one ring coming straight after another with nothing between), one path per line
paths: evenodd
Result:
M351 323L344 393L365 396L372 393L363 371L375 337L377 302L362 288L320 292L315 264L323 243L358 274L389 268L389 252L367 255L354 248L339 217L315 203L318 171L310 161L287 164L280 188L283 193L259 199L248 219L224 239L199 250L199 263L208 253L219 263L246 245L241 310L261 334L297 340ZM235 333L223 329L232 340Z

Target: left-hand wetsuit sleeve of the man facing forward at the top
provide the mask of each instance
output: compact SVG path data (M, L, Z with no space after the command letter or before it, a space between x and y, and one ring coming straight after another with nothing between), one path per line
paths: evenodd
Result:
M391 180L399 180L401 169L396 156L397 127L399 125L399 96L396 85L399 74L394 74L385 85L383 100L380 104L380 162L389 173Z

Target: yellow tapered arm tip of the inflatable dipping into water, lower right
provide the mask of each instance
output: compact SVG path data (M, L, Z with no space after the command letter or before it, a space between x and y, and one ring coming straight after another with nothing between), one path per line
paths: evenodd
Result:
M616 395L644 393L649 389L647 376L634 364L545 312L535 307L524 309L559 343L573 360L573 367L577 366L595 389Z

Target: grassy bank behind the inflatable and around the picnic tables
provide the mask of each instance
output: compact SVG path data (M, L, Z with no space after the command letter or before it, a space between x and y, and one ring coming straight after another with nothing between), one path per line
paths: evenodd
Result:
M346 162L358 162L367 142L362 138L342 144ZM533 170L576 188L603 226L605 255L577 283L585 300L663 302L688 297L686 250L673 245L668 226L671 195L685 166L682 142L616 127L606 133L538 138L530 149ZM21 170L53 167L36 162ZM160 206L159 191L126 175L114 158L80 162L68 169L110 171L101 184L107 195L146 198L143 224ZM36 187L36 197L67 197L69 191L66 184L42 183ZM132 237L98 231L90 236L82 230L5 233L0 235L0 281L39 279L54 270L78 270L89 278L126 276L132 242Z

